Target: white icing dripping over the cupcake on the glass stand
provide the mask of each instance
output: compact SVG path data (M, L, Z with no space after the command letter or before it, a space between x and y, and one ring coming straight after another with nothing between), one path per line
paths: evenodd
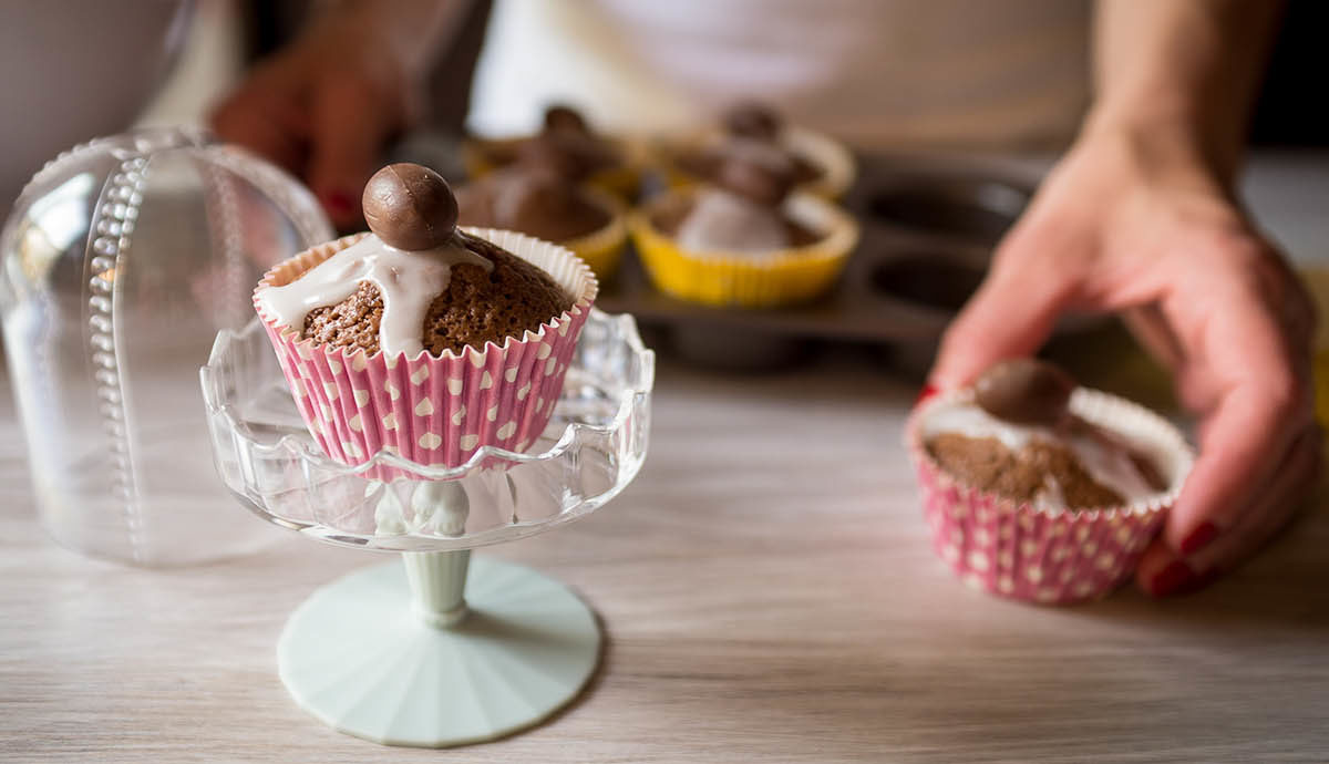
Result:
M383 296L379 348L415 356L424 349L421 334L429 303L447 291L452 267L470 263L493 271L489 259L468 250L459 238L432 248L407 251L369 234L282 287L263 287L259 304L279 324L300 331L310 311L335 306L369 282Z

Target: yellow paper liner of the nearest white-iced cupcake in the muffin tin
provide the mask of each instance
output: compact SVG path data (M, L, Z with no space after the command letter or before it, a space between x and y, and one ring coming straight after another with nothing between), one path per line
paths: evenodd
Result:
M657 288L707 306L771 308L828 292L859 243L859 225L845 211L811 194L795 194L787 214L825 235L808 246L772 252L687 251L655 227L654 213L683 203L692 190L657 198L629 215L637 252Z

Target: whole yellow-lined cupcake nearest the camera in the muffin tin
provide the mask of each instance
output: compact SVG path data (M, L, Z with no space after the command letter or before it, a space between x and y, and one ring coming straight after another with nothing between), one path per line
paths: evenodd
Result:
M791 193L792 162L735 155L712 183L676 189L629 218L655 286L710 306L779 307L835 286L859 240L848 214Z

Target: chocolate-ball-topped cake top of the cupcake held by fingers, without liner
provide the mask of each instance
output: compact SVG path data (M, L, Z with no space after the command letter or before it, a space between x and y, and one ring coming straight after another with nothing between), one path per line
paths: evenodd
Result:
M1162 493L1139 448L1070 412L1075 387L1051 364L1003 361L978 379L971 399L926 413L924 444L960 482L1045 509L1123 506Z

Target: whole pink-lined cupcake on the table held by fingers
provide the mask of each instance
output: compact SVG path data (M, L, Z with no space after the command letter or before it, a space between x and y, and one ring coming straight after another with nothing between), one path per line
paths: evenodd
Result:
M971 586L1043 603L1130 577L1192 461L1162 417L1030 359L924 401L906 441L938 554Z

